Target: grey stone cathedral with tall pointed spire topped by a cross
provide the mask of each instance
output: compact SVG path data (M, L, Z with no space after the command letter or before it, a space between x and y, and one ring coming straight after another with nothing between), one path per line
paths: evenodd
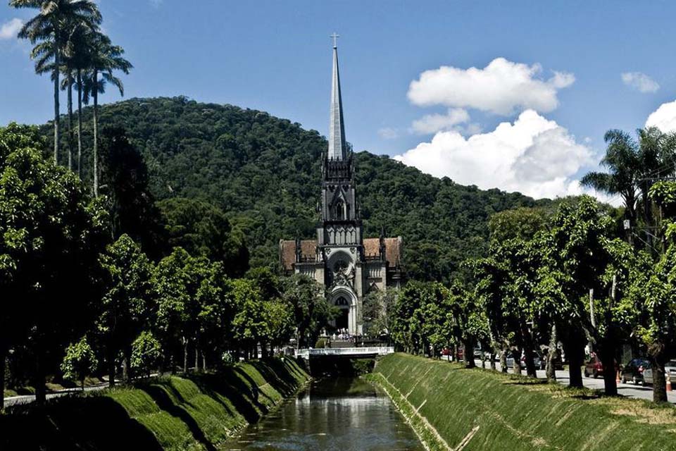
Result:
M399 288L401 237L382 232L380 237L363 237L354 156L345 140L335 35L328 141L322 156L317 239L280 240L280 263L286 273L306 274L322 283L330 304L341 311L334 326L361 335L365 295Z

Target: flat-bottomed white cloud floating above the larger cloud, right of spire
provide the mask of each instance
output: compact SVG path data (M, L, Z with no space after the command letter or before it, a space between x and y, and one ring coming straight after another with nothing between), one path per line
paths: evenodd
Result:
M539 78L542 66L495 58L483 69L442 66L425 70L408 87L408 99L419 106L442 104L508 116L518 109L547 112L558 106L558 90L572 85L571 73Z

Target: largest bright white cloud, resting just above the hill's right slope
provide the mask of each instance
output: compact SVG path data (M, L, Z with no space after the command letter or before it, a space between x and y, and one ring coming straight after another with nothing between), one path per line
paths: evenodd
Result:
M468 138L457 131L438 132L430 142L394 159L463 185L498 187L536 198L582 194L575 174L596 163L592 149L533 110L522 112L514 123Z

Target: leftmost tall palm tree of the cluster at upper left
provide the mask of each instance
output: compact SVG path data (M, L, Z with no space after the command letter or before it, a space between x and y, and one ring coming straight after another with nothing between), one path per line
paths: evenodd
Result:
M37 44L31 53L36 59L35 70L41 74L51 71L54 82L54 162L58 162L58 91L61 51L67 37L68 24L82 22L98 25L101 13L92 0L10 0L14 8L39 8L40 12L28 20L18 37Z

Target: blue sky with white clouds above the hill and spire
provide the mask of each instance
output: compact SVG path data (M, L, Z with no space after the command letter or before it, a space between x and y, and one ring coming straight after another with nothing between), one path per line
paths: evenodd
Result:
M354 148L464 184L535 196L577 192L575 180L603 151L605 130L642 127L663 104L653 122L676 122L670 1L99 5L104 30L135 66L124 78L125 97L184 94L268 111L323 134L336 31ZM0 6L1 124L51 116L49 78L34 75L30 47L12 33L32 13ZM430 80L413 92L425 71ZM498 132L500 123L507 124Z

